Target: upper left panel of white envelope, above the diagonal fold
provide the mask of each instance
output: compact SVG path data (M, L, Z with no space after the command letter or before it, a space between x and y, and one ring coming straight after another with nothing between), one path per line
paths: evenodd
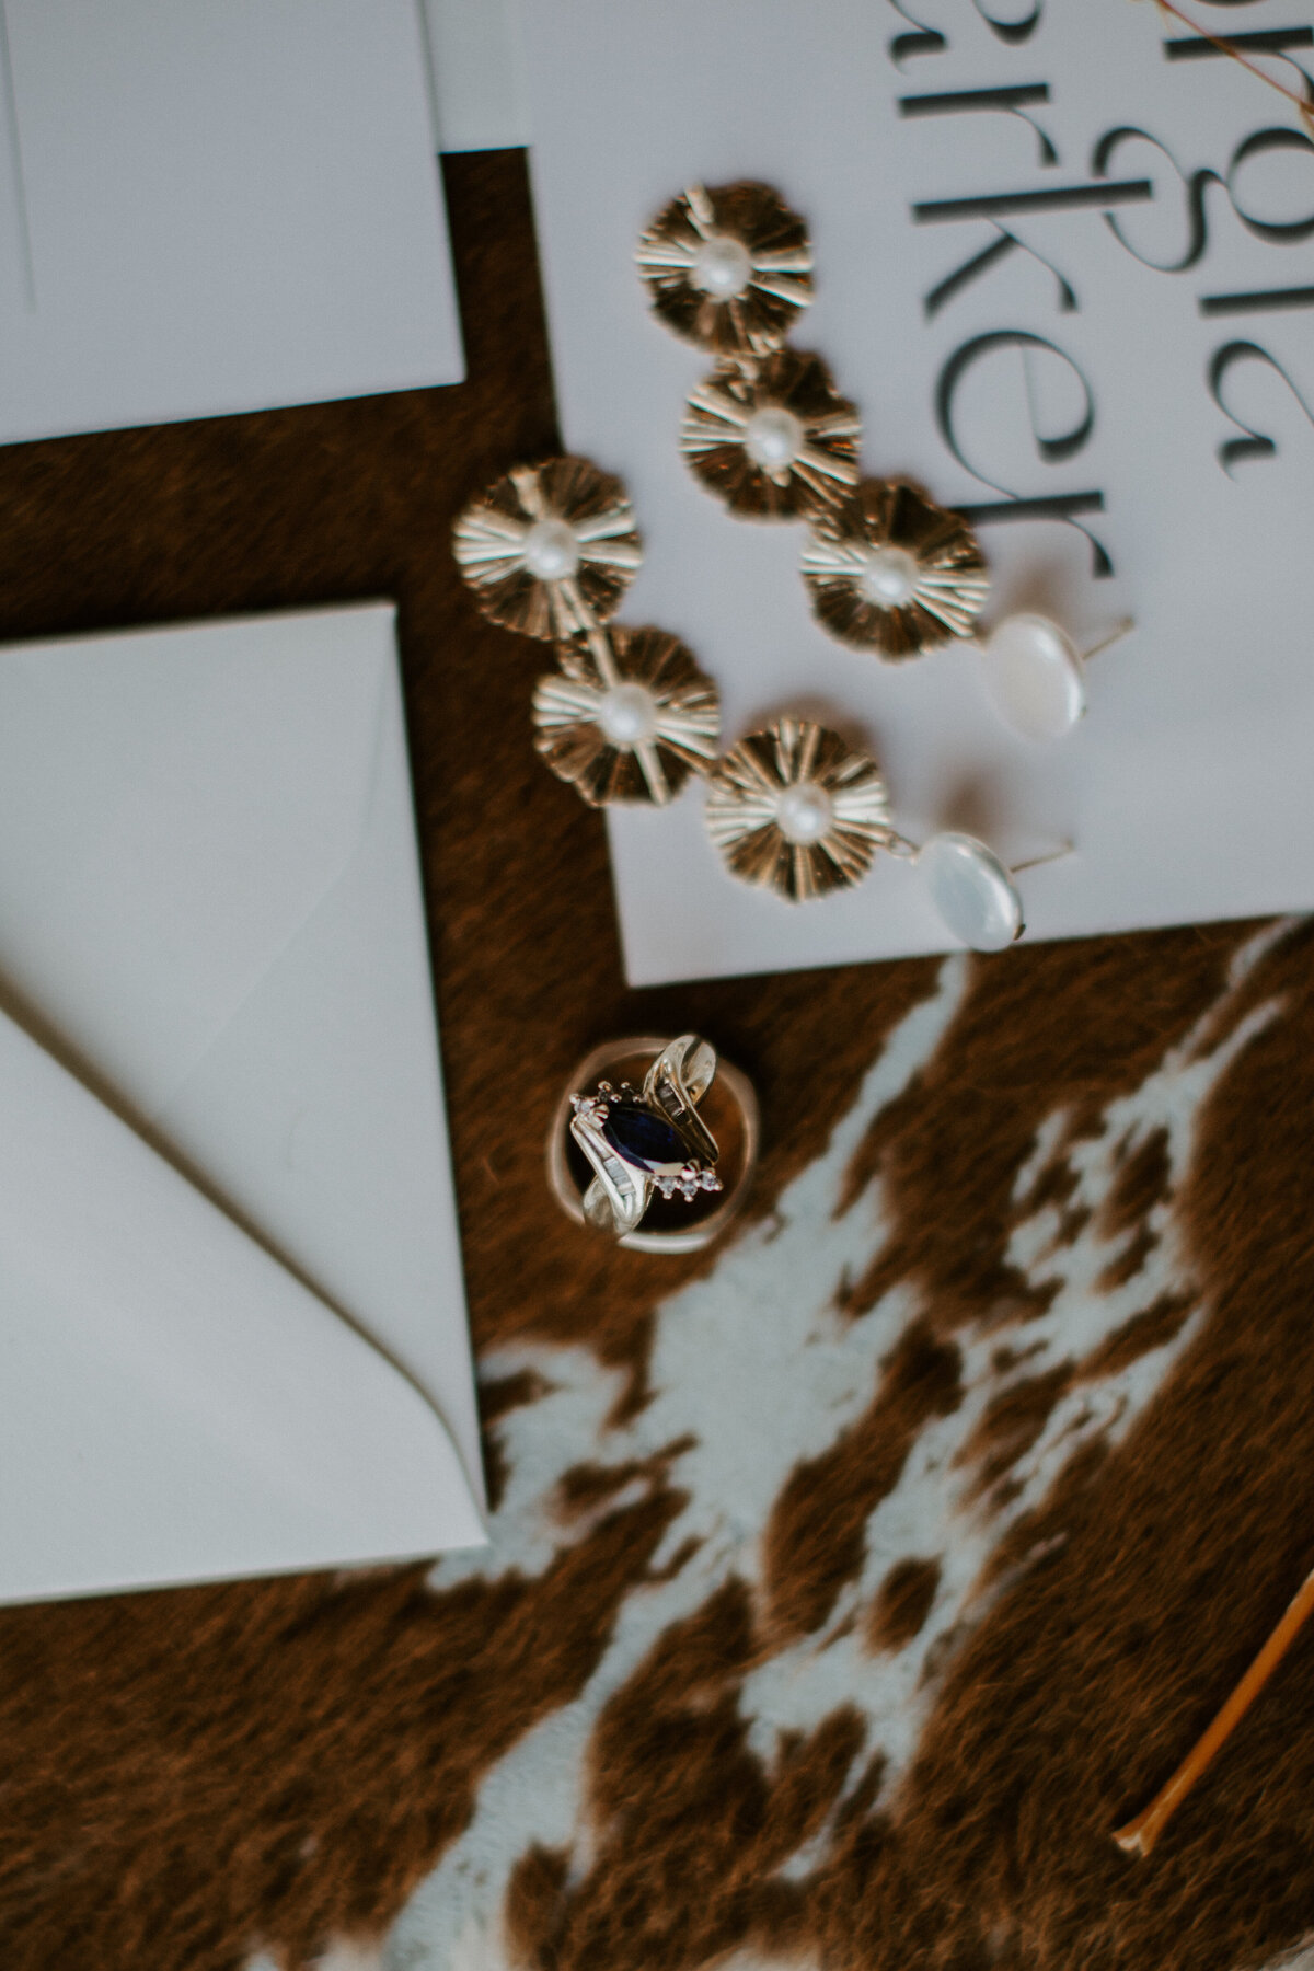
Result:
M0 652L0 974L144 1114L351 855L392 621L370 605Z

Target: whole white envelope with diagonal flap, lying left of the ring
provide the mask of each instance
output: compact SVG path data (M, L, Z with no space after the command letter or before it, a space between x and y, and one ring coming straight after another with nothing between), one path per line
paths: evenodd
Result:
M485 1539L372 603L0 652L0 1600Z

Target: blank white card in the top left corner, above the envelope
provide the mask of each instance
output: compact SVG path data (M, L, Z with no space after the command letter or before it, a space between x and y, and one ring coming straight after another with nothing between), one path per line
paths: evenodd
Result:
M0 442L459 382L418 0L0 30Z

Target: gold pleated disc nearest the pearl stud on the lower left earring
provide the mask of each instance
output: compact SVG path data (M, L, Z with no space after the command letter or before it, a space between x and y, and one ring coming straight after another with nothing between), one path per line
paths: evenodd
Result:
M806 719L778 719L717 761L707 834L731 875L790 903L851 889L898 840L875 759Z

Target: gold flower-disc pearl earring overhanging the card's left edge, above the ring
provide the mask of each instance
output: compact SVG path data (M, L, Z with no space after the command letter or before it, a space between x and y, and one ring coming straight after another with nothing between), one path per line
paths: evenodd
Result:
M957 942L997 952L1022 934L1017 871L973 836L918 848L898 834L881 769L839 733L786 717L717 757L717 688L693 654L666 631L611 621L642 558L619 479L577 457L516 467L459 516L453 552L485 615L556 643L534 745L589 806L666 806L699 773L707 832L739 881L810 903L888 853Z

